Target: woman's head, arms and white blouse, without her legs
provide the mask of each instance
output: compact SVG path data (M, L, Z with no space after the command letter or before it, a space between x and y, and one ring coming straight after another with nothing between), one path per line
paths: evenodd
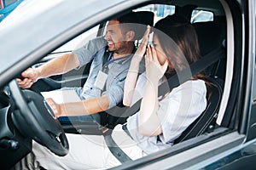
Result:
M158 86L175 72L183 71L200 58L194 27L180 15L167 16L154 26L153 46L148 34L131 60L125 81L124 105L133 105L143 96L140 112L127 120L137 145L146 153L173 144L181 133L201 115L207 106L207 82L202 73L158 98ZM138 66L146 51L146 72L137 80ZM190 74L187 72L186 74ZM138 133L139 132L139 133ZM150 137L150 138L147 138Z

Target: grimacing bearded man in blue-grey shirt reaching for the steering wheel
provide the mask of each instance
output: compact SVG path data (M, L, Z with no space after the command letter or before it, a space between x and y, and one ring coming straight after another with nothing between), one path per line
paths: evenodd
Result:
M17 80L20 88L30 88L40 78L79 69L92 60L84 88L76 89L82 99L80 102L56 104L54 99L46 100L61 122L68 119L71 122L100 122L100 116L96 113L118 105L123 99L125 77L135 52L134 41L142 37L135 31L138 29L136 25L125 23L137 23L136 13L110 20L106 35L91 40L83 48L22 72L24 79ZM142 34L143 31L140 30ZM104 59L106 45L110 52L108 59ZM69 116L68 119L65 116Z

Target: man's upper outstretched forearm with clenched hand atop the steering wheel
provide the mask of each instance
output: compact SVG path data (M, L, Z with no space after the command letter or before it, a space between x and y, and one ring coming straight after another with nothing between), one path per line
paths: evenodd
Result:
M23 80L17 79L20 88L30 88L34 82L44 77L63 74L79 66L79 59L75 54L64 54L61 57L50 60L38 68L29 68L21 73Z

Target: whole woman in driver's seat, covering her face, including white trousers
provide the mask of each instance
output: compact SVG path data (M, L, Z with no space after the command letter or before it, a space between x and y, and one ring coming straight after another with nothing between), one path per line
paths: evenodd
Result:
M125 133L121 125L114 127L111 135L119 148L132 160L170 147L174 139L177 139L207 106L207 86L201 80L201 74L158 98L158 85L166 81L166 77L172 76L173 72L183 70L188 63L195 62L199 57L193 27L187 20L176 15L160 20L154 29L153 46L146 45L149 32L148 26L143 44L132 59L125 82L125 104L131 104L129 92L136 84L139 87L140 82L143 82L141 110L127 120L126 127L131 136ZM144 54L146 72L137 81L137 66ZM120 164L108 150L102 136L67 133L67 139L70 145L67 156L55 156L48 149L34 143L32 153L21 161L21 166L19 164L16 167L96 169Z

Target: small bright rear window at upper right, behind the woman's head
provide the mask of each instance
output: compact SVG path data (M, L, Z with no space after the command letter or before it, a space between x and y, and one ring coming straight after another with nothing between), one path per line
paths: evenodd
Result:
M210 11L195 9L191 14L190 21L191 23L213 21L213 13Z

